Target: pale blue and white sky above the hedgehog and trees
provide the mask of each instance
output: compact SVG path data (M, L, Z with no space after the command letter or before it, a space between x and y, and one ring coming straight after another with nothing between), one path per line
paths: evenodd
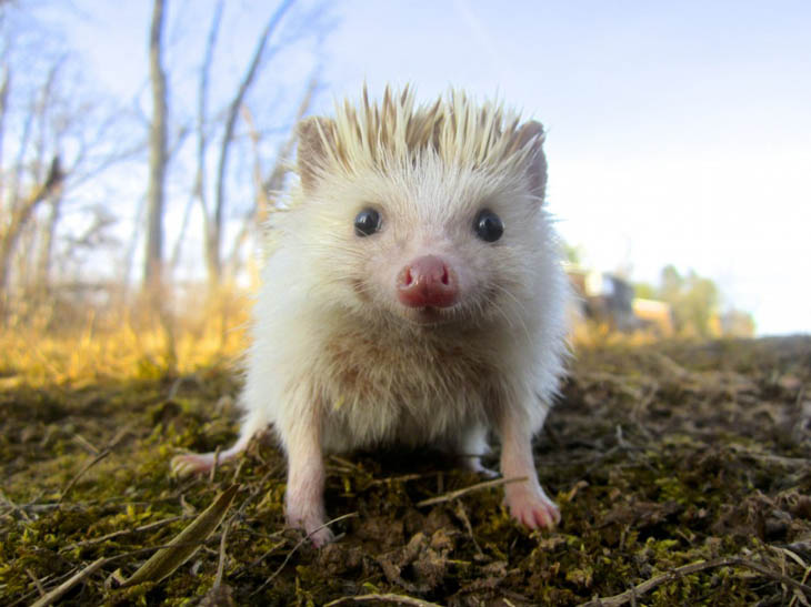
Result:
M176 57L208 26L201 4L170 0ZM811 333L811 2L324 6L317 111L364 82L372 93L411 82L424 100L450 85L499 97L547 128L549 210L585 265L649 282L670 263L692 269L759 334ZM223 34L237 64L273 3L230 7L249 16ZM41 9L122 98L146 82L149 11L146 0ZM308 61L312 51L291 55L279 78Z

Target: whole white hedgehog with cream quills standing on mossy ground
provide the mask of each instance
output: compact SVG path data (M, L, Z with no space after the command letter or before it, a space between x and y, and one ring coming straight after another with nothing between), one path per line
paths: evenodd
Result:
M366 90L298 127L300 188L273 214L237 444L268 425L288 522L331 539L326 453L434 445L483 468L492 428L514 518L551 527L532 436L563 372L568 282L543 208L543 129L450 91ZM181 455L202 472L214 454Z

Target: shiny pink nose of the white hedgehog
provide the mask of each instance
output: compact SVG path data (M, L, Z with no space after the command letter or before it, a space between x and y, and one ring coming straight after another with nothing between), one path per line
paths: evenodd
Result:
M434 255L417 257L398 274L397 295L409 307L449 307L459 295L457 275Z

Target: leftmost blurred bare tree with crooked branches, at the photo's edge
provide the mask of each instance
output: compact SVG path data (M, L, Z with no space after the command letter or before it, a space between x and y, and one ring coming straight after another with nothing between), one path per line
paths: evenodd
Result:
M77 57L58 37L24 10L11 17L0 20L3 307L44 301L52 262L69 250L63 246L67 234L59 232L62 216L87 219L93 194L84 193L83 186L133 158L141 145L117 136L120 133L113 131L126 122L121 112L86 83Z

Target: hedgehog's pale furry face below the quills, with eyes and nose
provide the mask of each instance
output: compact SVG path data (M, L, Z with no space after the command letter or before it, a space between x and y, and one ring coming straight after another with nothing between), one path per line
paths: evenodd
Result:
M330 297L415 325L524 316L549 239L533 166L494 174L427 152L304 183Z

